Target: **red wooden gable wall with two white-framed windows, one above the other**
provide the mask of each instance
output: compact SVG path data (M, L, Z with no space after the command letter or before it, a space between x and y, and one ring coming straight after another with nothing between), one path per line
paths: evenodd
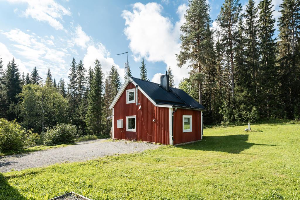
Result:
M126 90L135 88L135 85L129 83L123 94L114 106L114 138L115 139L137 139L145 142L155 142L155 118L154 105L138 91L138 103L141 104L141 109L136 103L126 103ZM136 115L136 131L126 131L126 116ZM123 129L117 128L117 120L123 119ZM135 137L135 138L134 138Z

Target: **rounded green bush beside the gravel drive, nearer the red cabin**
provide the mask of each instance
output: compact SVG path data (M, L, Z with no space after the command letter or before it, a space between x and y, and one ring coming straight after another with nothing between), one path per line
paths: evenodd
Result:
M75 143L77 128L72 124L58 124L48 130L43 137L44 144L47 146Z

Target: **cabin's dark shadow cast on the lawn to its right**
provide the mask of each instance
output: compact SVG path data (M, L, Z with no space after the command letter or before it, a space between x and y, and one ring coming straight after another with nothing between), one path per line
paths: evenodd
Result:
M178 148L239 154L253 145L276 146L250 143L247 142L248 137L249 135L203 136L202 141L200 142L189 145L180 145Z

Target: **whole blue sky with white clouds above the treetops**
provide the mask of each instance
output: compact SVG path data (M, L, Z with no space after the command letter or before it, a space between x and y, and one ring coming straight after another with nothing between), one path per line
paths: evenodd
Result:
M214 21L222 0L208 0ZM257 3L258 1L256 1ZM280 0L273 0L278 17ZM112 64L124 76L126 54L133 76L145 58L148 78L158 82L171 67L178 86L188 76L176 66L180 26L188 1L75 1L0 0L0 57L7 64L14 57L21 72L36 66L42 78L50 67L53 78L67 81L73 57L85 67L98 58L104 73ZM243 7L247 1L241 1ZM213 27L217 24L213 22Z

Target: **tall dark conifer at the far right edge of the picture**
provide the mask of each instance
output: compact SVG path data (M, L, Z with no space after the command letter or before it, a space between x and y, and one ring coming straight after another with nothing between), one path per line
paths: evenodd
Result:
M300 116L297 113L300 110L300 3L297 0L283 0L279 7L281 13L278 18L279 40L277 42L279 102L287 117L295 118Z

